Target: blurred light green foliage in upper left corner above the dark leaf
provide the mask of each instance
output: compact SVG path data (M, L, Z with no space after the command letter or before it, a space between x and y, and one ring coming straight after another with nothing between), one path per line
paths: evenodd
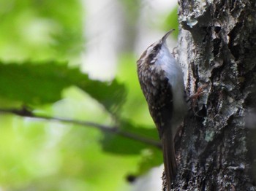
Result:
M83 48L78 0L0 0L2 61L67 60Z

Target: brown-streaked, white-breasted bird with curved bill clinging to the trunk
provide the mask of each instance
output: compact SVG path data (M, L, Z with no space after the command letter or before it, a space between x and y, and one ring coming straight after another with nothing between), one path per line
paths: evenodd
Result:
M167 47L170 30L151 44L137 61L140 87L162 142L167 190L176 176L173 138L187 112L181 66Z

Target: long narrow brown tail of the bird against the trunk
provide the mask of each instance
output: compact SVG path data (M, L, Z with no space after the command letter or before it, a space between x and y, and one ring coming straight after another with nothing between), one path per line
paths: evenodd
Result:
M173 144L173 136L171 128L165 128L162 134L162 152L164 155L165 178L167 189L170 190L170 185L176 176L176 155Z

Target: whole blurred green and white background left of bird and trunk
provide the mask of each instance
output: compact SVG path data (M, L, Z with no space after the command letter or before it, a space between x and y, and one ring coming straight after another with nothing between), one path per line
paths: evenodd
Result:
M172 51L176 1L0 0L0 109L26 105L157 139L136 61L171 28ZM111 101L117 89L118 104ZM159 149L97 128L0 113L0 140L0 190L161 188Z

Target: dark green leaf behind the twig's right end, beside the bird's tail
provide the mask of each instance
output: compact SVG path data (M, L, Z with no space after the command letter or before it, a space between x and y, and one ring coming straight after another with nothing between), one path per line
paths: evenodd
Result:
M147 138L159 141L158 133L155 128L146 128L123 121L120 130L125 133L133 133L141 139ZM143 143L135 139L128 139L124 136L113 133L104 133L101 141L102 149L116 155L140 155L141 160L135 176L146 173L154 166L162 164L162 150L153 145ZM160 143L160 141L159 141Z

